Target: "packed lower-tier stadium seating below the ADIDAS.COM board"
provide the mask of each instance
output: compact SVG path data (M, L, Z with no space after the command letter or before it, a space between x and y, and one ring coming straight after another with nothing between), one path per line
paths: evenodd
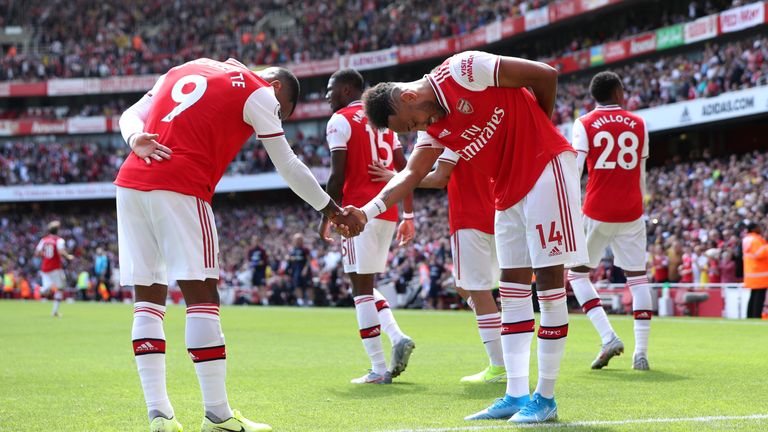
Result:
M746 175L745 175L746 173ZM739 235L746 219L768 224L768 198L760 194L768 178L768 154L750 153L725 159L677 162L668 167L653 168L648 174L647 214L649 245L660 245L669 258L666 280L680 280L677 266L687 257L694 265L694 281L736 282L740 270ZM418 262L435 255L447 262L447 206L445 194L420 193L417 196L416 243L406 249L395 249L392 257L416 268ZM259 235L275 272L271 284L287 286L281 273L287 266L287 254L293 233L304 234L313 257L313 273L318 287L327 282L339 265L338 257L314 233L317 214L296 201L278 204L216 203L216 217L221 242L223 281L242 285L238 273L247 267L247 251L251 237ZM116 226L112 210L80 208L64 213L7 215L0 218L0 267L15 268L34 274L30 260L44 222L61 218L62 236L78 257L69 266L70 280L92 266L95 249L106 246L116 257ZM43 222L40 222L43 221ZM332 259L328 268L326 257ZM335 263L335 264L334 264ZM736 265L738 264L738 265ZM674 267L674 268L673 268ZM739 270L737 270L739 269ZM399 270L390 270L388 278L397 279ZM602 265L595 278L608 277ZM418 277L418 276L416 276Z

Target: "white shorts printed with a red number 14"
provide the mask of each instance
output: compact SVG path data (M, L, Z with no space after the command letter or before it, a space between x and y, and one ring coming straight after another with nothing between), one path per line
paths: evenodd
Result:
M496 252L502 269L586 262L576 156L552 159L520 202L496 211Z

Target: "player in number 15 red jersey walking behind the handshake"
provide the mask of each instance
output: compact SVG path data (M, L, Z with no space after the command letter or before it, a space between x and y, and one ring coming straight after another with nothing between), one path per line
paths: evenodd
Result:
M387 170L405 168L406 160L397 135L368 124L360 96L365 81L354 69L342 69L328 80L326 99L334 111L328 120L326 140L331 148L331 175L328 194L343 205L362 206L375 197L384 184L368 174L368 165L380 163ZM363 346L371 359L371 371L352 380L353 384L389 384L408 366L413 340L397 324L387 300L375 288L376 274L386 269L389 247L398 220L397 206L370 221L359 236L343 239L344 272L352 282L355 311ZM324 216L320 235L328 240L328 220ZM400 246L414 235L413 196L403 201L403 221L397 228ZM390 368L381 344L381 331L392 343Z

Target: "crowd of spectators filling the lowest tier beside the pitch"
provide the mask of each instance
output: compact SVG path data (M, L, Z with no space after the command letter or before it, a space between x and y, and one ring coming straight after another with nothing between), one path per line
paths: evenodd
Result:
M698 155L696 162L676 161L648 173L649 274L654 282L736 282L741 277L741 235L744 222L768 226L768 153L754 152L725 159ZM311 294L316 304L349 304L338 243L325 245L315 233L317 213L304 204L250 204L247 201L217 202L214 205L221 244L221 283L235 287L237 301L260 303L251 292L249 250L256 244L267 254L266 301L294 304L292 249L294 234L308 251ZM420 192L416 201L415 243L390 254L385 280L399 292L407 286L439 293L450 286L446 196L442 192ZM92 257L103 248L115 263L117 254L115 215L112 210L78 209L67 213L9 213L0 218L0 265L14 272L17 280L37 281L33 250L41 237L42 224L59 218L60 234L76 256L67 265L74 287L77 276L91 271ZM595 280L617 281L610 257L593 275ZM117 290L113 282L112 290ZM19 285L20 286L20 285ZM16 292L19 292L17 286Z

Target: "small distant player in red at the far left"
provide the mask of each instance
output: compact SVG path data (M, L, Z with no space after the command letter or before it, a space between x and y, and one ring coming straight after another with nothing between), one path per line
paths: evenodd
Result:
M41 294L53 296L51 316L60 317L59 306L64 298L63 290L67 287L67 277L64 274L61 257L68 260L74 258L67 252L64 239L59 237L61 222L53 221L48 224L48 235L40 239L35 248L35 255L42 258L40 276L43 279Z

